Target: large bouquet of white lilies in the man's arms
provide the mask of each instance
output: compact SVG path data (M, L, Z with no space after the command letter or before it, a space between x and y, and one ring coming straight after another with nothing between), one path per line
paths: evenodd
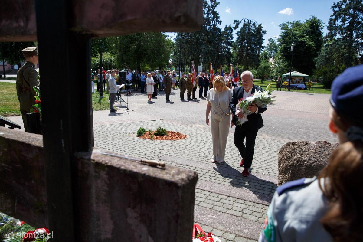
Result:
M268 105L273 105L274 100L273 98L276 98L276 96L272 97L272 91L269 90L271 87L271 83L266 87L265 91L258 91L253 94L253 96L249 96L245 99L241 98L238 100L237 108L240 110L243 114L243 116L253 114L253 112L249 111L247 107L251 104L256 104L257 107L266 108ZM242 127L242 124L245 123L244 118L237 120L237 125L240 125Z

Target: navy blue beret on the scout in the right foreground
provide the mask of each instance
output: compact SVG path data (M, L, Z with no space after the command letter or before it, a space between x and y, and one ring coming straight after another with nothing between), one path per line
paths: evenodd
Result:
M339 114L363 123L363 65L347 68L334 79L330 103Z

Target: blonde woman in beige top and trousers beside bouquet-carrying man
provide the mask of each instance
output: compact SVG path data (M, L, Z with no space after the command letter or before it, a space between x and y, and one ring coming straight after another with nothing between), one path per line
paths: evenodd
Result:
M205 123L209 126L209 112L211 112L211 131L213 141L213 156L211 162L221 163L224 161L224 154L227 145L229 131L229 102L232 98L232 91L226 86L224 77L217 76L213 81L213 89L207 95L207 113Z

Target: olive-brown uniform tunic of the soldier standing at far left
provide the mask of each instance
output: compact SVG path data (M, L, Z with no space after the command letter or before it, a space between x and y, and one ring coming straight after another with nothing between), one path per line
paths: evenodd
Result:
M30 109L35 104L37 95L33 87L39 87L38 72L35 65L27 61L20 67L16 76L16 94L20 102L20 109Z

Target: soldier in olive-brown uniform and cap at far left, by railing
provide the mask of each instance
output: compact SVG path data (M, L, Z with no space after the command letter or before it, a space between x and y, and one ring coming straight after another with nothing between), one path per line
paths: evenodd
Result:
M25 57L25 64L20 67L16 74L16 94L20 102L20 112L23 118L25 132L28 132L26 126L26 114L35 103L37 93L33 87L39 87L38 72L35 64L38 63L38 51L35 47L28 47L21 50Z

